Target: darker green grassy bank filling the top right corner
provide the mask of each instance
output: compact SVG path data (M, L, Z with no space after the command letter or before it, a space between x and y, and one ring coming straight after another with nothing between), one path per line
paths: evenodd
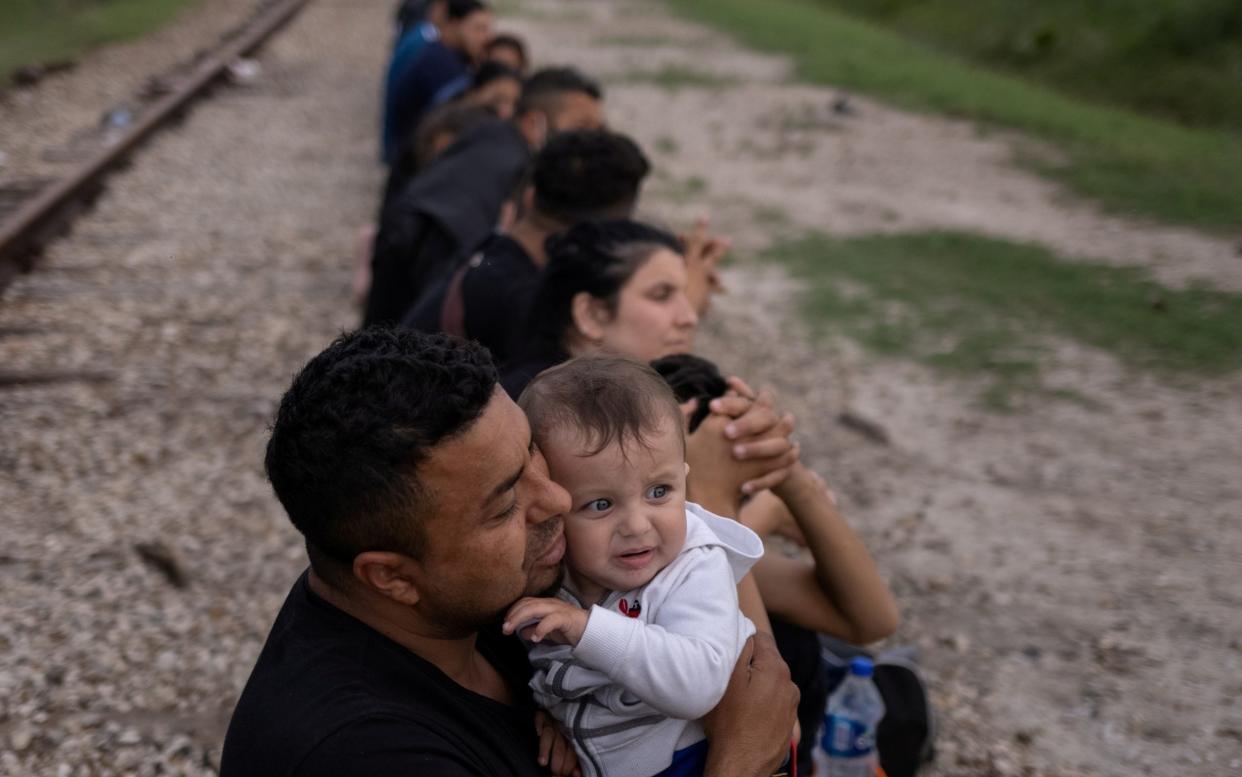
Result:
M1238 0L818 0L1066 92L1242 130Z

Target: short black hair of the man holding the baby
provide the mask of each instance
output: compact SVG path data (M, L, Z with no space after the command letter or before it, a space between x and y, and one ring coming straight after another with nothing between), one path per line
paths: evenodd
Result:
M422 555L415 470L478 420L496 385L482 346L406 329L343 335L302 369L265 464L317 573L340 582L369 550Z

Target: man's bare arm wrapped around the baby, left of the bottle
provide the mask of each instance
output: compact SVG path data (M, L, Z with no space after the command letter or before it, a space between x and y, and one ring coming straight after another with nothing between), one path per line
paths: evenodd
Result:
M766 634L746 640L724 699L703 721L705 777L766 777L790 750L799 690Z

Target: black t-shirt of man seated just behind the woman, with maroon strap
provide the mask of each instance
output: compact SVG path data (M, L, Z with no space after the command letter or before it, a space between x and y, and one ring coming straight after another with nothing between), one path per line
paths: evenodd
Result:
M461 281L466 338L487 346L496 364L504 362L520 345L538 282L539 268L534 259L508 235L493 235L469 257ZM420 331L440 331L451 283L452 273L448 273L414 307L405 325Z

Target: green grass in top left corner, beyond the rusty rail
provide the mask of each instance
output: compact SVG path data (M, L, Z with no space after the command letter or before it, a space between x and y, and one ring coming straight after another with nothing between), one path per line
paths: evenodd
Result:
M196 0L0 0L0 81L138 37Z

